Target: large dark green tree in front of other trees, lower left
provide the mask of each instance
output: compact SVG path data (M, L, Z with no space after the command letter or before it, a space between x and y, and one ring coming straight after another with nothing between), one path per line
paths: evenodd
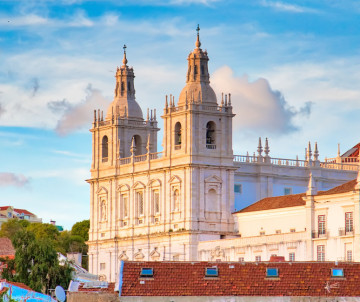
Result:
M56 285L67 287L72 268L68 263L59 264L53 242L48 238L36 238L34 232L20 230L13 238L15 274L5 269L10 281L23 282L35 291L46 293Z

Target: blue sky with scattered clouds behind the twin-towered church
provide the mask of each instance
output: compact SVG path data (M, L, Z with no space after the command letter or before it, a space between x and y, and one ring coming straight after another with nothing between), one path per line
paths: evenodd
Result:
M198 23L212 86L233 95L235 154L261 136L273 157L303 158L308 141L336 156L359 141L359 15L350 0L0 0L0 204L66 228L88 218L88 129L123 44L143 112L161 112Z

